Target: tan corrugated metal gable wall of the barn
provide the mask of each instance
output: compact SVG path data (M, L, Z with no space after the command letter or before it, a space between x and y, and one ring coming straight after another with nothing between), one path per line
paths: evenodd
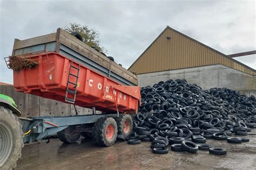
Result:
M166 37L171 37L171 39L167 40ZM224 54L168 26L151 46L140 55L129 70L137 74L143 74L216 64L256 75L254 69L228 58Z

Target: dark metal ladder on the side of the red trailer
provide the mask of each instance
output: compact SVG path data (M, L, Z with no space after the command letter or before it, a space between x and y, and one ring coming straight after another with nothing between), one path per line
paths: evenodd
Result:
M77 70L77 75L72 74L71 73L71 68L76 69ZM69 103L75 103L76 101L76 95L77 95L77 81L78 81L78 77L79 77L79 70L80 70L80 65L78 65L78 67L73 66L73 61L71 61L70 64L70 68L69 68L69 77L68 77L68 82L66 83L66 95L65 95L65 102L69 102ZM73 76L76 78L76 82L71 82L70 81L70 77ZM70 84L74 85L74 90L70 89ZM71 94L71 95L69 95ZM72 96L72 98L68 97L68 96Z

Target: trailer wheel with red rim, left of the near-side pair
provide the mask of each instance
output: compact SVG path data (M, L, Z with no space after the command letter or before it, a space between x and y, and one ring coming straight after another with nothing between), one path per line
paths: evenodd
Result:
M117 140L117 123L112 117L102 117L93 126L93 140L99 146L111 146Z

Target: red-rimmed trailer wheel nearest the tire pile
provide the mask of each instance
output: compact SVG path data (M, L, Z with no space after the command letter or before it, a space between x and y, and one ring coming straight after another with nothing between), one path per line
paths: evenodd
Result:
M132 117L127 114L120 114L119 117L114 117L117 122L118 134L121 134L126 139L133 131Z

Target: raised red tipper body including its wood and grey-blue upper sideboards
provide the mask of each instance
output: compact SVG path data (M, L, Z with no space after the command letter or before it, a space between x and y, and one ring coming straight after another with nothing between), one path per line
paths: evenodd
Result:
M12 56L39 63L38 68L14 72L16 91L103 112L138 111L137 76L62 29L15 39Z

